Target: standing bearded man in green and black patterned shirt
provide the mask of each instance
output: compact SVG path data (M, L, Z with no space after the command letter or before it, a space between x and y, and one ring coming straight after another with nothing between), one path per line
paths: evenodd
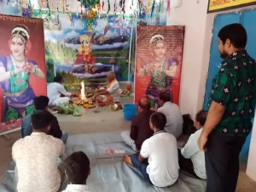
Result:
M247 32L240 24L218 32L218 50L224 59L212 82L207 121L198 145L206 151L207 192L235 192L239 153L252 129L256 64L245 50Z

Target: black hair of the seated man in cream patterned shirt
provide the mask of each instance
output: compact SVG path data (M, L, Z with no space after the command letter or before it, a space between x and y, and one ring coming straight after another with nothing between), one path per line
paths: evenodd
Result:
M51 113L47 110L35 113L31 116L33 129L46 129L50 126L53 119Z

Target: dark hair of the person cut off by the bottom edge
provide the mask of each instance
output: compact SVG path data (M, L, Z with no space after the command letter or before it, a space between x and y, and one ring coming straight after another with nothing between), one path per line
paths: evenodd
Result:
M74 152L64 161L67 178L72 184L86 184L90 172L90 160L82 151Z

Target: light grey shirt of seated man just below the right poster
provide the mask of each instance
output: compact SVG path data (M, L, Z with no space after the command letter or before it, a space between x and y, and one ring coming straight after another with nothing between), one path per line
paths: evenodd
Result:
M166 102L157 112L166 116L166 132L172 133L175 138L179 138L183 134L183 115L177 104Z

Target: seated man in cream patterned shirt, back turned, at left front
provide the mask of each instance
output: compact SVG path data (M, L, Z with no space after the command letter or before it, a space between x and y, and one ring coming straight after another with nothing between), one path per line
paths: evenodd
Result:
M33 133L20 138L12 148L19 192L55 192L61 186L58 157L64 156L64 144L47 133L52 116L47 111L32 115Z

